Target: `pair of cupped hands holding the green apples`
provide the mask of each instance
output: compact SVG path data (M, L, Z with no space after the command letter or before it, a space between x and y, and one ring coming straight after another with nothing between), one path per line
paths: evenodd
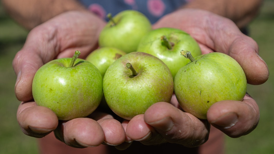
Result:
M58 121L48 108L37 106L32 98L35 72L55 58L72 57L76 50L85 58L98 48L98 36L105 21L85 11L68 11L33 28L22 49L13 60L17 75L15 94L19 101L17 119L22 131L41 138L54 131L56 138L72 147L93 147L100 144L126 149L133 140L145 145L165 142L195 147L207 141L210 125L230 137L246 135L259 122L259 108L249 95L243 101L220 101L210 107L207 120L183 112L175 96L171 103L153 104L142 115L130 121L117 120L100 111L89 117ZM182 9L162 17L153 28L173 27L190 33L203 54L222 52L242 66L249 84L267 81L269 70L258 55L258 45L241 33L231 20L210 12ZM194 131L193 131L194 130Z

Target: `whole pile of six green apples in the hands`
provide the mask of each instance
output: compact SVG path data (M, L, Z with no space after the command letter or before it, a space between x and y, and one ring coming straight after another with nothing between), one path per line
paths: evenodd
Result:
M216 101L243 99L246 76L231 57L202 55L188 33L153 30L147 17L134 10L108 17L99 48L86 59L77 58L76 51L73 58L44 64L34 76L35 102L58 119L86 117L103 104L130 120L156 102L170 102L173 93L184 111L206 119ZM182 50L192 56L187 52L182 58Z

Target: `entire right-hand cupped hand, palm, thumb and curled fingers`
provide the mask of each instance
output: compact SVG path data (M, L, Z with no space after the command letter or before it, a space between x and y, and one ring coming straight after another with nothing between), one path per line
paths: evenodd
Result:
M256 42L229 19L202 10L182 9L164 16L153 26L184 30L198 41L203 54L230 55L243 68L249 84L262 84L269 77ZM216 102L208 110L207 121L183 112L174 96L171 104L158 102L144 115L134 117L127 125L126 135L146 145L170 142L195 147L207 141L210 124L234 138L250 133L258 121L258 105L248 94L243 101Z

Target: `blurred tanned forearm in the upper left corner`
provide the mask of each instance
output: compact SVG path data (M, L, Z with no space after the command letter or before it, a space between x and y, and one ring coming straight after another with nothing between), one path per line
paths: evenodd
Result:
M86 10L77 0L2 0L7 13L27 29L69 10Z

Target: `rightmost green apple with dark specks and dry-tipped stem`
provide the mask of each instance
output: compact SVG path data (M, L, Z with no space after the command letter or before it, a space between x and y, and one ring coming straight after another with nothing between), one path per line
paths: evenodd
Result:
M242 67L232 57L219 52L201 55L181 52L192 62L182 67L174 79L176 98L185 112L207 119L207 110L218 101L242 101L247 80Z

